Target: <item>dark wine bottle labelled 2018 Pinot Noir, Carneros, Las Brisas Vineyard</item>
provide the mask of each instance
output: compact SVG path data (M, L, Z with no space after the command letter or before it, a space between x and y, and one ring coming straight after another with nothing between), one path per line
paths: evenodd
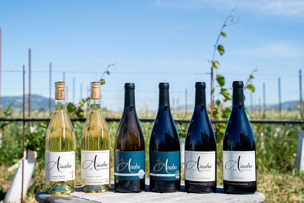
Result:
M244 106L243 81L232 84L232 108L223 139L223 185L231 194L257 191L255 141Z

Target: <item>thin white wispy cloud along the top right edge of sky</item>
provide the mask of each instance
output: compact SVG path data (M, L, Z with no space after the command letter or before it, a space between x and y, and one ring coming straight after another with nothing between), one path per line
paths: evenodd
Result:
M156 0L155 4L171 9L198 9L208 5L220 10L237 7L246 12L263 12L282 16L304 16L303 0Z

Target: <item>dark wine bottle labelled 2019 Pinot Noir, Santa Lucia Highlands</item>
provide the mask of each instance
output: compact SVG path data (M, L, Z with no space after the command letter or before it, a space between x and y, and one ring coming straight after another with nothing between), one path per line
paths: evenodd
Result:
M206 83L195 83L195 106L185 139L185 190L216 191L216 139L206 105Z

